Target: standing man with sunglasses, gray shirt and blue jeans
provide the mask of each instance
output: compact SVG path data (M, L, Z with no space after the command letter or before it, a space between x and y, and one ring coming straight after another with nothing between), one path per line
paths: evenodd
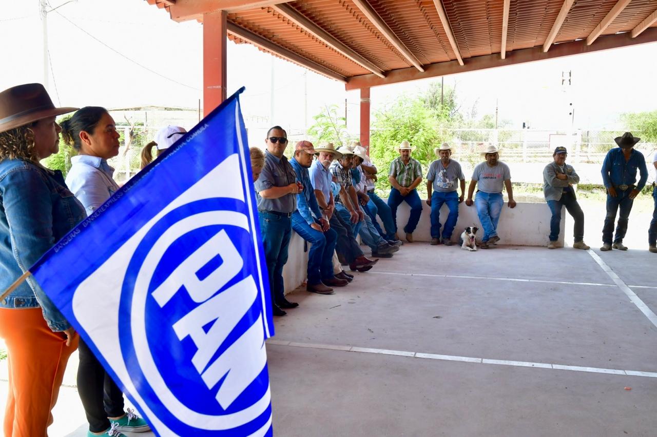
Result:
M274 316L284 316L281 308L296 308L296 302L285 299L283 266L288 259L288 246L292 236L292 213L296 211L296 194L303 186L296 180L296 173L283 156L287 146L287 133L280 126L267 131L265 138L265 165L256 180L260 232L265 249L271 306Z

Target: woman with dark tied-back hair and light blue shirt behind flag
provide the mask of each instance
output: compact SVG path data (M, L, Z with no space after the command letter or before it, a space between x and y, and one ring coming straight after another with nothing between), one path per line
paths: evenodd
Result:
M62 138L78 151L71 159L66 184L91 215L119 186L107 160L119 153L119 134L105 108L86 106L62 122ZM118 292L118 291L117 291ZM122 436L121 432L150 430L131 409L124 411L124 398L110 375L89 349L79 342L78 394L89 421L87 436Z

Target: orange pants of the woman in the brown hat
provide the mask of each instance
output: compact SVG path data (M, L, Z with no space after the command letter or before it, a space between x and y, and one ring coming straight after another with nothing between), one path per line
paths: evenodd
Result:
M79 337L66 346L64 335L46 324L41 308L0 308L0 337L7 343L9 360L5 437L46 437Z

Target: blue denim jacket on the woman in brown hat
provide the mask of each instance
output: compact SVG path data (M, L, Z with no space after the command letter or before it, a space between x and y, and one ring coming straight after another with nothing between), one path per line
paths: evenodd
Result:
M85 217L60 171L22 159L0 161L0 290L9 288ZM1 308L39 306L53 331L70 327L34 278L0 301Z

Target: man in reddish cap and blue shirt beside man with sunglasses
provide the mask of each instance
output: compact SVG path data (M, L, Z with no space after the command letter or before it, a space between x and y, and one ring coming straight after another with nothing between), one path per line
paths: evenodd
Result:
M308 252L306 290L321 295L333 294L331 287L344 287L349 281L336 278L333 274L333 252L338 234L330 228L328 219L317 205L315 192L310 182L308 169L313 162L315 150L309 141L300 141L294 148L290 160L296 178L304 190L296 196L296 211L292 213L292 229L311 243Z

